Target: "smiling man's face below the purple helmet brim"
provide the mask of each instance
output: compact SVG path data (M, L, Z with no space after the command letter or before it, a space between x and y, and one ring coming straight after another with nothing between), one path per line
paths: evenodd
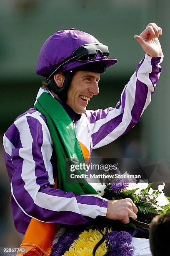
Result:
M88 101L99 93L100 73L77 71L72 79L68 93L67 105L77 114L85 113Z

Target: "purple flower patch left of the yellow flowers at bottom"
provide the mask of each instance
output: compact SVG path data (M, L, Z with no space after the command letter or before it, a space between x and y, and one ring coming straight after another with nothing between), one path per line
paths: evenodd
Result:
M62 235L57 243L55 243L52 247L51 256L62 256L70 247L70 245L74 242L75 239L78 238L80 231L68 230Z

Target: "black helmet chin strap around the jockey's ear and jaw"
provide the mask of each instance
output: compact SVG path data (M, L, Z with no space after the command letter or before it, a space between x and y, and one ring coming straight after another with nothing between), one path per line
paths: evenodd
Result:
M50 79L48 82L48 88L52 90L52 92L56 93L60 100L62 100L63 102L67 101L67 92L70 87L73 76L74 72L72 70L69 70L65 75L62 87L57 87L54 77L52 77L52 79Z

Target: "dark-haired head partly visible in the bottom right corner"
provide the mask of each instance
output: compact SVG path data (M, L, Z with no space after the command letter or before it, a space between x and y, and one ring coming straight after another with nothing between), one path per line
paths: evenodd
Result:
M160 214L150 224L150 249L153 256L169 256L170 213Z

